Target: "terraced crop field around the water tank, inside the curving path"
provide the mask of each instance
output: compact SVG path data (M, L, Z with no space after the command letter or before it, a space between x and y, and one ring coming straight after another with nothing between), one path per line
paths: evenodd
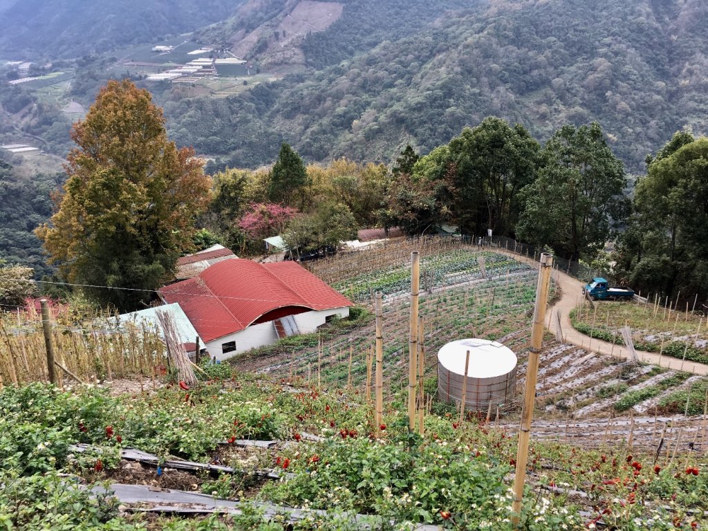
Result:
M365 258L362 261L362 256L357 256L360 263L352 270L365 263ZM372 292L386 294L384 384L389 399L394 399L407 382L410 273L405 253L399 252L397 266L381 262L385 264L381 270L367 267L365 273L343 278L335 285L369 309ZM346 262L338 268L346 270ZM423 255L420 315L425 329L427 389L434 392L436 388L438 349L449 341L474 336L501 341L518 353L520 396L536 279L537 273L529 265L474 247ZM600 355L553 341L550 336L546 339L537 383L535 437L600 448L627 445L631 434L635 447L656 450L663 433L664 450L668 446L672 452L708 447L703 421L707 378ZM374 340L375 325L370 319L357 329L324 334L321 353L318 338L312 338L276 355L255 351L236 361L236 367L285 379L319 381L328 389L345 389L351 384L362 392L366 353ZM499 425L515 429L519 413L518 400L507 404L500 412Z

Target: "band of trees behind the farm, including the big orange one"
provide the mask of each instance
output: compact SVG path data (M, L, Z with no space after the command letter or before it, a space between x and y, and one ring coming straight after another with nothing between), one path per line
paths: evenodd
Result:
M193 152L169 141L149 93L112 81L72 137L69 181L50 224L35 233L69 282L146 290L93 293L122 310L149 302L181 253L215 242L253 255L280 234L297 258L355 239L362 227L416 236L443 224L600 263L636 289L708 293L708 248L696 244L708 227L708 140L687 132L647 159L632 199L597 122L565 125L542 144L523 125L488 117L430 154L406 147L389 167L306 166L283 143L268 168L210 179ZM4 176L9 185L7 164ZM617 242L615 256L603 250L608 241Z

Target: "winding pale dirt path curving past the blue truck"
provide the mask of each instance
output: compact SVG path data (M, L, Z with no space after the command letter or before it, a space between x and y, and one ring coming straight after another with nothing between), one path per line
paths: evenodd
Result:
M538 268L538 262L534 261L532 258L527 258L526 256L519 256L518 254L511 253L504 249L493 249L493 251L501 254L506 254L515 258L515 260L522 261L531 265L534 268ZM556 333L558 327L556 322L556 313L561 315L561 333L563 334L563 339L566 343L572 343L581 348L586 348L588 351L597 352L605 355L622 356L629 360L629 350L624 346L612 345L612 343L607 343L607 341L600 341L599 339L590 339L583 333L578 332L573 328L571 324L571 310L576 307L580 297L582 297L583 283L570 275L566 275L559 270L553 271L553 279L558 282L561 289L561 295L556 302L549 307L549 313L552 315L547 316L546 326L552 333ZM595 304L603 304L602 302L595 302ZM670 356L661 356L659 359L658 353L644 352L644 350L636 350L636 355L639 356L641 361L653 363L653 365L661 365L661 367L666 367L673 370L683 370L685 372L692 372L696 375L708 375L708 365L702 363L686 361L683 362L678 358L670 358Z

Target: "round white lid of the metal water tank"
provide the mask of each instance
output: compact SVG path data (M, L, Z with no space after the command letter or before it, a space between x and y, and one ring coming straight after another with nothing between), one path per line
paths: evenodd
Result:
M516 367L517 359L510 348L486 339L459 339L442 346L438 362L442 367L464 375L464 359L469 350L469 378L493 378L507 375Z

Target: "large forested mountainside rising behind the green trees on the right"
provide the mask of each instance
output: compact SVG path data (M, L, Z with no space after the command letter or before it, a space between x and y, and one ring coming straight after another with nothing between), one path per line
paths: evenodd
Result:
M354 33L366 38L356 25L342 28L346 12L307 38L313 66L355 51ZM379 28L389 22L377 19ZM390 161L407 143L428 152L486 115L523 122L540 139L598 120L639 172L676 130L707 130L701 0L494 1L428 22L245 96L168 102L171 133L232 166L254 166L273 159L280 139L315 161Z

